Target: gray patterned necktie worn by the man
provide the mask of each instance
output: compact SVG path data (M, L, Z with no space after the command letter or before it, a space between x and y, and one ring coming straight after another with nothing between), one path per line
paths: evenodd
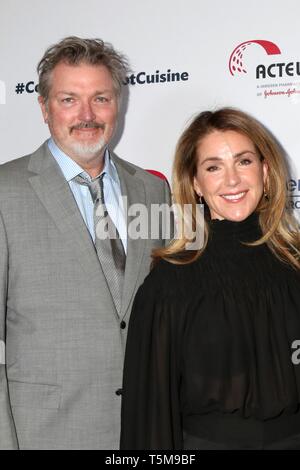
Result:
M95 247L118 314L121 311L126 254L119 232L111 220L104 200L102 173L88 181L78 175L74 180L88 186L94 203Z

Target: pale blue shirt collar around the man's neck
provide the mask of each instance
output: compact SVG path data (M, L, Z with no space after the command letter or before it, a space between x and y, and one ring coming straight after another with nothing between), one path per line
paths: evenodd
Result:
M80 175L81 173L83 173L83 176L86 177L87 179L91 179L89 174L86 173L86 171L83 170L83 168L81 168L81 166L78 165L78 163L76 163L71 157L66 155L56 145L52 137L48 140L48 147L53 157L55 158L57 164L59 165L64 177L66 178L68 182L71 181L73 178L75 178L75 176ZM112 161L110 157L110 153L107 147L104 153L104 167L103 167L101 174L104 172L105 172L105 176L107 175L115 183L120 184L117 169L115 167L114 162Z

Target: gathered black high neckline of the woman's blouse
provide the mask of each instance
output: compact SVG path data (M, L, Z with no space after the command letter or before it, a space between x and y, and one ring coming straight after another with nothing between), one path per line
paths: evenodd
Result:
M262 235L258 219L258 214L253 212L249 217L240 222L226 219L210 220L210 238L212 241L253 242Z

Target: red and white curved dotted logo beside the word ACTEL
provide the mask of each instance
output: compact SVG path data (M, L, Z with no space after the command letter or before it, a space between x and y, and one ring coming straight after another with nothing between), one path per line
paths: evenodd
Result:
M231 75L236 75L240 73L247 73L246 67L244 65L244 54L249 46L253 46L253 44L258 44L261 46L268 55L276 55L281 54L281 51L274 42L271 41L264 41L261 39L253 39L251 41L242 42L239 44L234 51L232 52L230 59L229 59L229 71Z

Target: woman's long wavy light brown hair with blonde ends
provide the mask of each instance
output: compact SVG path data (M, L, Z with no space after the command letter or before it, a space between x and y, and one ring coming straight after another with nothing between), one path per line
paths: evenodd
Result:
M197 228L196 207L199 196L194 190L194 176L197 172L197 147L204 137L214 131L236 131L248 137L258 155L268 166L266 183L267 197L262 198L256 208L262 236L251 245L267 243L272 252L294 268L300 268L299 224L287 210L288 171L283 152L272 135L256 119L233 108L222 108L215 112L204 111L191 122L180 137L173 166L173 196L182 217L180 234L167 247L153 252L153 261L165 259L175 264L195 261L207 246L209 237L209 211L204 219L204 243L199 250L188 250L190 242L185 236L187 221L184 220L186 204L192 210L192 228Z

